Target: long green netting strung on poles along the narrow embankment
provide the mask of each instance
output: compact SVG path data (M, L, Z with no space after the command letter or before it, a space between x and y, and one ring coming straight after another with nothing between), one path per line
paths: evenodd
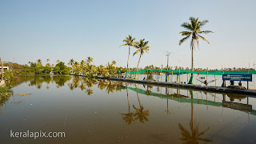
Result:
M126 73L126 71L120 71L122 73ZM219 71L219 70L212 70L212 71L191 71L191 70L138 70L138 71L130 71L130 74L143 74L147 72L154 72L154 73L169 73L169 74L209 74L209 75L222 75L222 74L256 74L256 70L251 71Z

